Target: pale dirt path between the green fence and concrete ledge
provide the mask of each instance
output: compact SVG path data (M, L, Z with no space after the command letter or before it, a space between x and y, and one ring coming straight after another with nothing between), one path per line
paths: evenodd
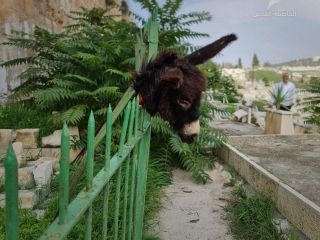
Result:
M230 198L229 173L217 167L209 174L212 182L195 184L190 173L174 170L173 184L166 189L163 209L155 229L162 240L232 240L224 220Z

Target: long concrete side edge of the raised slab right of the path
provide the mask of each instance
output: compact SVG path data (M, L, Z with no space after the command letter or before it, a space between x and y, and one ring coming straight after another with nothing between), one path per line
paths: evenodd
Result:
M320 239L320 207L229 144L220 158L233 167L256 191L272 199L293 225L312 240Z

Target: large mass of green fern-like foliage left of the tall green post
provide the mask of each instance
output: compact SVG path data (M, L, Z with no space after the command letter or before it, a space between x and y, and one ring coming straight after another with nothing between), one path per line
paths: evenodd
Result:
M130 85L136 26L115 21L107 10L73 12L76 22L59 34L36 27L31 38L10 38L5 45L32 50L33 54L3 63L2 67L28 64L23 84L12 98L32 102L38 109L55 112L51 122L76 125L90 110L105 114Z

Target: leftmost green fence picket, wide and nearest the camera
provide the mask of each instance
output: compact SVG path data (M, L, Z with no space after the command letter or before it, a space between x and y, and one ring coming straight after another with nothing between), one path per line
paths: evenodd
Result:
M18 196L18 162L10 144L5 167L5 198L6 198L6 239L19 239L19 196Z

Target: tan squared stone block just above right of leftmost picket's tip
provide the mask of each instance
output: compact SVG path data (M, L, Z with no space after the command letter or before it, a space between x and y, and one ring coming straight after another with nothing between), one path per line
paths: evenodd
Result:
M22 142L24 148L37 148L39 138L38 128L19 129L16 131L16 134L16 141Z

